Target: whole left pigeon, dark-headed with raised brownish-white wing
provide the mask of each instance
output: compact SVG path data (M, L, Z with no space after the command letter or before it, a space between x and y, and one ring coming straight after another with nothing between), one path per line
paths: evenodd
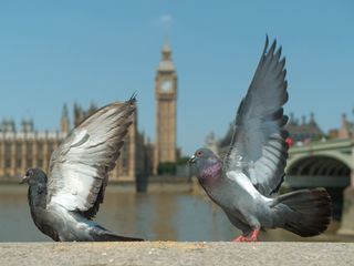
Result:
M53 152L49 175L30 168L28 200L37 227L56 242L143 241L117 236L92 218L103 202L108 172L114 168L133 123L135 96L97 110Z

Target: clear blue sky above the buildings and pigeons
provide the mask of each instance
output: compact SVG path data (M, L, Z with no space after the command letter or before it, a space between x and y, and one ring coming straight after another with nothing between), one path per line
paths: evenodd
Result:
M138 92L139 130L155 137L155 70L164 35L178 71L178 145L221 137L263 49L287 57L287 112L323 130L354 120L353 1L0 1L0 119L59 129L63 103L87 106Z

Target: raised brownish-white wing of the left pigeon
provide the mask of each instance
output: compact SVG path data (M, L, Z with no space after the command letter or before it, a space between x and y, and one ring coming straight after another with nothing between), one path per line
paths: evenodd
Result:
M48 205L60 204L87 218L96 214L134 113L135 96L97 110L70 133L50 161Z

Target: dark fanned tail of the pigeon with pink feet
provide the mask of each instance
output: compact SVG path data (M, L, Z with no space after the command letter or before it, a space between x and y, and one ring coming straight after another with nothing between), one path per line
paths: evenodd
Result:
M303 237L323 233L331 222L331 197L324 188L287 193L272 205L275 227Z

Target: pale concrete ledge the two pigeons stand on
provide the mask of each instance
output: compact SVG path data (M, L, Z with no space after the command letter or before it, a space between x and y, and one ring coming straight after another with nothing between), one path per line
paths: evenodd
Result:
M351 243L2 243L0 265L354 265Z

